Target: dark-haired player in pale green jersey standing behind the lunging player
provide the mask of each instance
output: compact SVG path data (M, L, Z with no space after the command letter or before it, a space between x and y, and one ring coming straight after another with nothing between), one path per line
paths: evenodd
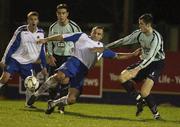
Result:
M49 27L49 36L54 34L66 34L81 32L80 27L68 18L69 7L67 4L59 4L56 8L57 21ZM71 41L51 41L47 44L49 54L49 73L54 74L54 70L61 66L72 54L74 43ZM59 88L60 87L60 88ZM55 88L49 89L51 99L57 98L57 93L64 96L68 92L68 85L57 85ZM60 113L64 112L64 108L59 109Z

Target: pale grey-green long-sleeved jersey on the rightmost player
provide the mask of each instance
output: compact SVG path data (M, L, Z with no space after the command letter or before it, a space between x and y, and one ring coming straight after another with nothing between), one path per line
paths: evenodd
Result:
M163 49L163 39L159 32L153 30L152 34L145 35L140 30L134 31L132 34L107 44L105 47L117 47L119 45L129 45L139 43L142 48L142 62L139 67L145 68L153 61L165 59Z

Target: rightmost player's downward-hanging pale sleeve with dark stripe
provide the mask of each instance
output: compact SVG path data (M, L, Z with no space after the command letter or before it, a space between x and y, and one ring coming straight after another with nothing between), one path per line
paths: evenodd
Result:
M155 34L153 34L153 36L154 37L151 42L151 47L148 56L139 64L139 67L141 68L147 67L154 60L154 57L160 49L160 40Z

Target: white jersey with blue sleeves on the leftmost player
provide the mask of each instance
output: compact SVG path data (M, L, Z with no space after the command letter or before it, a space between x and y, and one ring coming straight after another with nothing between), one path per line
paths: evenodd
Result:
M7 64L10 58L14 58L20 64L29 64L40 58L43 67L45 67L45 46L36 44L40 38L44 38L42 29L37 28L36 32L32 33L28 30L27 25L20 26L10 40L2 62Z

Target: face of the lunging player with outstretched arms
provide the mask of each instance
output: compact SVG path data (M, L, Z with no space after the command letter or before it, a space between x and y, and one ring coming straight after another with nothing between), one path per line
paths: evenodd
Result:
M95 41L100 41L103 38L103 29L92 29L91 38Z

